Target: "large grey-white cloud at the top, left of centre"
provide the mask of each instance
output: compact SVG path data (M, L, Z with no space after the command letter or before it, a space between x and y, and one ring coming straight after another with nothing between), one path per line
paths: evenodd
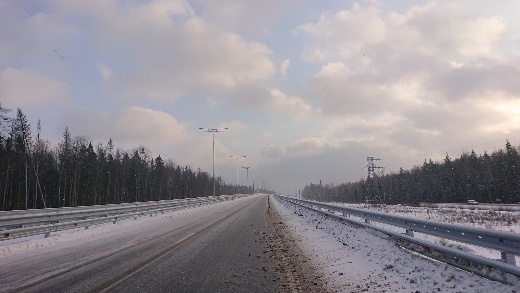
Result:
M96 19L90 33L98 50L135 64L129 71L111 68L118 78L109 85L120 97L172 99L204 89L233 89L244 81L269 79L276 71L265 44L207 23L183 0L70 5Z

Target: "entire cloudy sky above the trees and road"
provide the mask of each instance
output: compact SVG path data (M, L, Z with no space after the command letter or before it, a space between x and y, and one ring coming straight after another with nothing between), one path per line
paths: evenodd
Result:
M0 1L0 101L282 193L520 143L518 1ZM241 183L245 172L240 170ZM250 181L252 178L250 177ZM251 183L251 182L250 182Z

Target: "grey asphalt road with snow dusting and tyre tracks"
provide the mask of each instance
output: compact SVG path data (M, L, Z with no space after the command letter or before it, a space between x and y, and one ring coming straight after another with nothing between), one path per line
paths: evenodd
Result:
M0 291L326 291L285 228L267 194L245 197L2 258Z

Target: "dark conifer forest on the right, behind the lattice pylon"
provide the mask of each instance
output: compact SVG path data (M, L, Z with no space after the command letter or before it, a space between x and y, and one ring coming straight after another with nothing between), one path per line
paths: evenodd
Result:
M366 180L340 185L306 185L301 196L317 201L365 202ZM519 149L506 141L505 150L464 152L457 158L446 154L443 162L424 160L422 166L410 170L379 175L376 182L386 204L419 202L479 203L520 202L520 154Z

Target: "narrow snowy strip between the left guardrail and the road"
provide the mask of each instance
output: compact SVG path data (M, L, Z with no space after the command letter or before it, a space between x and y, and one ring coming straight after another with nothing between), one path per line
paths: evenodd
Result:
M192 207L191 209L177 210L166 214L157 214L150 216L139 217L136 220L126 219L124 221L117 222L115 224L107 223L101 225L90 226L89 229L84 228L70 229L64 231L58 231L51 233L50 237L44 238L42 235L34 235L23 238L16 238L11 240L0 241L0 258L20 253L24 251L30 251L38 248L49 247L57 245L59 243L70 242L77 239L82 239L94 235L106 234L112 231L121 230L129 227L134 227L141 224L152 223L156 221L162 221L164 219L176 218L181 215L209 209L215 205L226 204L227 202L219 202L211 205Z

